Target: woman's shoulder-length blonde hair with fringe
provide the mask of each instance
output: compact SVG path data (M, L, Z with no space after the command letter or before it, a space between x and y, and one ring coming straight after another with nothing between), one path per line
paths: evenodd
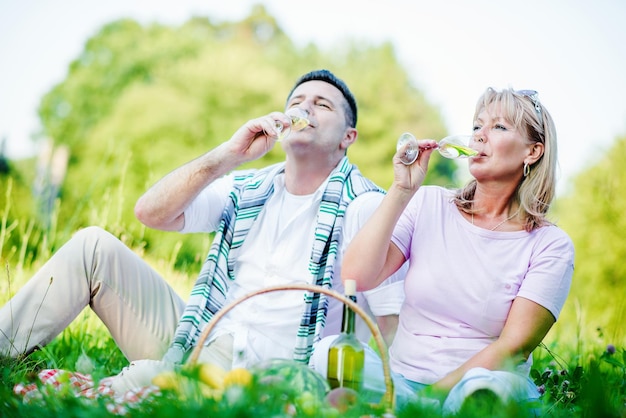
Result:
M541 142L543 155L530 167L522 167L522 180L512 196L519 204L519 216L524 229L532 231L548 224L546 214L556 189L557 144L556 128L550 113L539 102L534 91L488 88L478 99L474 119L484 110L497 107L505 120L526 135L529 143ZM476 180L459 189L454 198L457 206L473 211Z

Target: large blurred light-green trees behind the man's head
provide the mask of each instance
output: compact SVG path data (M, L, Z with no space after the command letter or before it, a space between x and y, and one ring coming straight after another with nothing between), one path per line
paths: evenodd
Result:
M235 23L194 18L179 27L132 20L105 25L39 107L45 136L70 147L57 225L64 235L91 224L114 225L115 235L171 257L180 237L140 225L133 214L137 198L169 171L227 140L246 120L282 109L297 77L316 68L331 69L354 90L359 140L349 156L382 187L391 182L402 131L422 138L445 134L438 110L411 85L390 44L298 48L262 6ZM283 159L278 146L249 166ZM456 183L454 162L431 161L427 182ZM22 202L30 207L22 200L28 184L17 192L20 208ZM185 237L178 267L198 263L207 247L205 236Z

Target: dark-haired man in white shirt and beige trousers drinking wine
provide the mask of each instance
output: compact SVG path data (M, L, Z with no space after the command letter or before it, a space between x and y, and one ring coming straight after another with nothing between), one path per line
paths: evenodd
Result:
M310 123L283 140L285 162L234 171L275 145L276 122L290 123L273 112L249 120L137 201L135 214L148 227L217 231L187 304L121 242L87 228L2 308L0 351L19 355L49 342L89 304L129 360L180 363L213 314L254 289L295 282L341 292L343 250L383 197L346 157L357 139L356 101L343 81L319 70L296 82L286 107L306 110ZM224 317L200 360L225 369L275 357L306 362L315 342L339 333L340 302L281 293L252 298ZM359 296L386 336L395 332L402 298L401 276ZM369 338L364 324L359 335Z

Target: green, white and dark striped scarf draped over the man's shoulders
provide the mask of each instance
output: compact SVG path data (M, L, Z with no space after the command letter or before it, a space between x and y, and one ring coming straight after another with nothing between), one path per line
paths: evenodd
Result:
M284 171L284 163L262 170L241 172L234 179L229 203L222 214L211 250L191 291L178 323L172 345L164 360L180 363L193 347L202 329L225 304L233 270L246 235L265 202L274 192L274 177ZM339 250L345 211L358 195L383 190L363 177L344 157L331 173L321 198L315 228L315 241L309 259L310 283L330 289ZM319 341L326 320L328 297L306 292L305 306L296 338L293 358L307 363L314 342Z

